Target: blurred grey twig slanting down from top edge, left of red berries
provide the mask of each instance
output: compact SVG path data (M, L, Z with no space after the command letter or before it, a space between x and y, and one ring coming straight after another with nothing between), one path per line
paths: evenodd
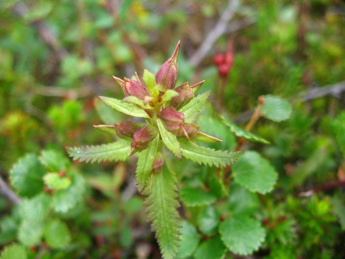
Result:
M189 64L198 66L208 51L213 48L217 39L223 35L228 27L229 21L233 18L238 6L238 0L230 0L227 9L222 13L215 27L208 33L203 43L189 59Z

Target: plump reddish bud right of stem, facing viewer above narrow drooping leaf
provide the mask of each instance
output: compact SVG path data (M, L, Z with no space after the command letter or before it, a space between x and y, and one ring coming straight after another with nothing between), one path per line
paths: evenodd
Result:
M171 106L162 109L157 117L163 121L166 129L175 135L185 122L185 115Z

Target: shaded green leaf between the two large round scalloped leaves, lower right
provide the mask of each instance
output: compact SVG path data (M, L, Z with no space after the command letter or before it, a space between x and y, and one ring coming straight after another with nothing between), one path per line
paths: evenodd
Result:
M259 199L256 193L248 191L246 188L232 183L229 190L229 210L231 215L251 216L259 208Z

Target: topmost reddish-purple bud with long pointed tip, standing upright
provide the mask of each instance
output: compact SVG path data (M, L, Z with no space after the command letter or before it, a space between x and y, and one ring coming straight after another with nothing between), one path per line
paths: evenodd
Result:
M177 59L180 51L180 41L171 57L158 69L156 82L163 89L174 89L177 81Z

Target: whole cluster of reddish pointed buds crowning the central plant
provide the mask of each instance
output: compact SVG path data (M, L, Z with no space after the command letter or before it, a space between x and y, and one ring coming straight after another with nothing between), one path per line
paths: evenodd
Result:
M204 83L204 81L201 81L189 85L186 82L175 88L179 50L180 42L178 42L172 56L158 69L156 76L151 74L150 80L144 77L146 87L140 83L138 77L137 80L126 77L122 80L114 77L117 85L125 95L122 102L129 102L130 100L130 103L143 109L149 115L149 118L146 119L148 124L141 126L130 121L123 121L115 122L114 125L98 125L95 127L108 133L110 130L114 133L115 129L115 134L118 137L132 139L129 155L145 150L149 143L156 138L159 134L157 118L161 119L167 131L177 137L187 138L189 141L209 143L220 141L200 132L198 125L186 123L184 114L178 111L194 98L195 93ZM152 168L155 172L159 172L163 163L164 159L157 156Z

